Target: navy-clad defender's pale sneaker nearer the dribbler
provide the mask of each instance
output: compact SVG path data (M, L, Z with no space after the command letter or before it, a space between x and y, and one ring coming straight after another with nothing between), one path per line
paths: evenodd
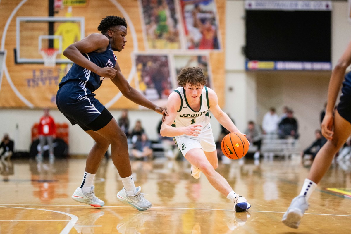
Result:
M151 202L144 198L144 193L140 193L141 187L137 187L137 192L134 195L127 195L127 190L122 188L117 193L117 198L122 203L132 206L137 210L147 210L151 207Z

